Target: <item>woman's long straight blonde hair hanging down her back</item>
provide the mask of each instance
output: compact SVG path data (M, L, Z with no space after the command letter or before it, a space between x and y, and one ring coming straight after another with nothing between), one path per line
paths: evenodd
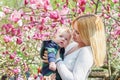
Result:
M73 22L77 25L80 38L86 45L90 45L93 52L94 63L102 66L106 55L105 30L102 19L94 14L77 17Z

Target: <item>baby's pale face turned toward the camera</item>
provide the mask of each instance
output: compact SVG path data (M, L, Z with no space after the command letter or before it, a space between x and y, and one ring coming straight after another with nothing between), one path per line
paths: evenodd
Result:
M60 47L67 47L71 39L71 34L67 32L60 33L56 36L55 42L60 46Z

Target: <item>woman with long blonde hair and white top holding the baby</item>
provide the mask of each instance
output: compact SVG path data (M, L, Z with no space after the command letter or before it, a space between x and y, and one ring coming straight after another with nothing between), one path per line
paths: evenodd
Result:
M72 22L73 42L65 51L64 60L56 56L62 80L86 80L93 65L102 66L106 55L104 25L100 17L87 14Z

